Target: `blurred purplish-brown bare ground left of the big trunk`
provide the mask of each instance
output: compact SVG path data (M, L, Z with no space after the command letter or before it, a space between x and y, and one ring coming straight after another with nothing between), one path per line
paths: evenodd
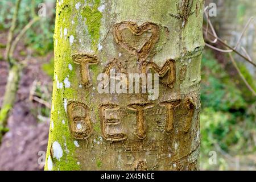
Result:
M0 34L0 42L5 42L6 34ZM23 49L19 45L18 49ZM0 49L3 55L4 49ZM16 55L20 59L22 56ZM41 69L42 64L51 59L52 53L44 57L31 57L23 70L16 103L8 121L10 131L3 137L0 146L1 170L43 170L38 164L39 151L46 151L48 142L49 119L39 122L31 110L36 103L29 100L32 83L40 80L42 85L51 85L51 78ZM0 58L0 107L8 76L8 64Z

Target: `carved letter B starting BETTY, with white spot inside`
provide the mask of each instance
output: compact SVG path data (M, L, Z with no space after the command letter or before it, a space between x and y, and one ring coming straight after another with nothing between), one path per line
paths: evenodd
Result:
M89 119L89 108L80 102L69 101L67 106L68 126L71 135L76 139L86 139L92 134Z

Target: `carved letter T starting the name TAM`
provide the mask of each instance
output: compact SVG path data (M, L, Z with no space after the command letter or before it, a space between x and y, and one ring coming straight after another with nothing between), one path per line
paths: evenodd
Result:
M90 73L89 73L89 65L90 64L98 64L99 61L96 56L88 55L86 53L78 53L72 55L72 59L74 63L80 65L80 74L81 74L81 81L82 84L85 85L85 88L88 88L92 85L90 80Z

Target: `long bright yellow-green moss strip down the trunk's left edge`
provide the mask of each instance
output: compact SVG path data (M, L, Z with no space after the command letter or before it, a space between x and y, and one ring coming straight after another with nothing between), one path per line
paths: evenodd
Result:
M54 80L53 80L53 96L52 96L52 104L54 105L54 110L51 113L51 121L54 124L53 129L51 128L49 131L49 140L48 140L48 148L47 148L47 158L51 155L50 148L51 144L55 141L60 143L61 148L63 150L63 157L59 160L52 159L53 168L52 170L79 170L80 166L77 165L76 150L77 147L73 143L75 139L71 137L68 129L68 118L67 113L64 109L64 101L63 99L73 100L77 98L77 86L79 85L79 81L76 79L75 64L73 64L71 58L71 46L69 44L69 36L76 35L75 28L76 26L72 26L71 19L72 2L64 1L64 3L59 6L57 3L56 10L56 24L55 24L55 41L57 40L57 44L55 44L55 61L54 61ZM65 13L63 13L65 11ZM58 16L59 15L59 16ZM65 19L65 21L63 21ZM68 21L67 21L68 20ZM67 38L60 38L60 32L63 31L64 28L68 28ZM56 42L55 42L56 43ZM68 64L72 64L74 70L70 71L68 69ZM71 81L70 88L57 89L56 84L57 80L59 82L63 82L63 80L68 77ZM65 125L61 122L64 119ZM55 132L57 131L57 132ZM47 164L45 167L48 170Z

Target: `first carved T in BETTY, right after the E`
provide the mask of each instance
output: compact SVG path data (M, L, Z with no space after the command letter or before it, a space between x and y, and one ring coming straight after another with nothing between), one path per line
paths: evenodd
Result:
M137 137L139 139L146 138L146 121L144 118L144 111L154 107L154 104L131 104L127 106L128 109L137 111Z

